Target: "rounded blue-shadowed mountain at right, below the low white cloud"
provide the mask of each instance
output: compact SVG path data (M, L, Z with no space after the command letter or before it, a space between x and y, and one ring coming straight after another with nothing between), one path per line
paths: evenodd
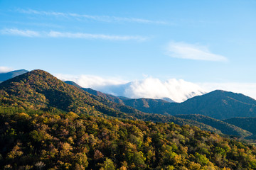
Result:
M211 118L226 119L234 117L255 117L256 101L242 94L228 91L212 91L202 96L196 96L183 103L170 103L162 108L162 113L201 114Z

